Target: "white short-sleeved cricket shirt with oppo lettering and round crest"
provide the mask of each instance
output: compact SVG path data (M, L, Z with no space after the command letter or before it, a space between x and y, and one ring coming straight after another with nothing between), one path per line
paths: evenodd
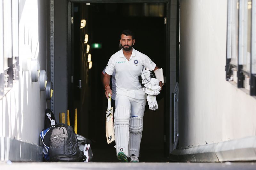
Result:
M138 76L141 74L143 66L152 71L156 64L147 55L134 48L132 48L132 55L128 61L121 49L110 57L105 72L112 75L116 70L116 87L118 89L138 90L141 88Z

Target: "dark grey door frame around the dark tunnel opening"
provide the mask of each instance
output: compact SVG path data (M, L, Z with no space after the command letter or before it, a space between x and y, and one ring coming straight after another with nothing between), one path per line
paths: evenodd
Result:
M166 4L166 78L165 78L165 84L164 88L166 88L166 93L164 97L164 154L165 156L169 156L170 154L170 137L172 137L172 130L171 130L171 111L172 111L172 105L171 105L171 92L170 92L170 44L171 44L171 0L68 0L68 61L71 56L71 15L72 15L72 3L165 3ZM69 64L68 64L69 66ZM69 69L68 69L68 76L70 76ZM69 78L68 78L69 79ZM69 84L69 83L68 83ZM69 87L68 87L69 88ZM69 91L69 90L68 90Z

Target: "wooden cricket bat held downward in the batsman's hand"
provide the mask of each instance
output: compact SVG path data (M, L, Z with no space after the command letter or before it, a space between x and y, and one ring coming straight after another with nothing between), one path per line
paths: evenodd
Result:
M108 93L108 109L106 111L106 137L108 144L115 141L113 107L110 106L110 102L111 96L110 93Z

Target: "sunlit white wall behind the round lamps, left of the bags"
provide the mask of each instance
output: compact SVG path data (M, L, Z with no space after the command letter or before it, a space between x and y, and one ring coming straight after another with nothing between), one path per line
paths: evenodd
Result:
M12 160L10 145L18 144L17 148L23 151L20 160L31 161L33 158L27 159L26 155L33 155L31 148L39 145L39 133L44 128L45 92L39 91L39 80L31 81L29 62L28 71L22 71L25 69L22 61L37 58L41 70L46 69L45 12L45 1L19 0L20 78L13 81L11 89L5 89L5 96L0 99L1 160ZM13 139L20 142L13 143ZM15 160L19 160L17 155Z

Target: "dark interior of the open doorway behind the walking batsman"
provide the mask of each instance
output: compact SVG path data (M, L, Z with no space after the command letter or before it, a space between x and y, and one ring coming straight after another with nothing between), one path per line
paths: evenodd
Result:
M94 161L116 161L115 144L108 145L105 136L107 99L101 82L102 70L119 50L120 33L130 29L135 33L134 49L148 55L169 76L167 3L74 2L69 7L68 109L77 108L78 134L92 141ZM156 111L146 106L140 161L165 162L169 156L165 154L169 151L166 138L170 126L169 120L166 121L170 101L166 88L157 96ZM72 126L73 117L70 112Z

